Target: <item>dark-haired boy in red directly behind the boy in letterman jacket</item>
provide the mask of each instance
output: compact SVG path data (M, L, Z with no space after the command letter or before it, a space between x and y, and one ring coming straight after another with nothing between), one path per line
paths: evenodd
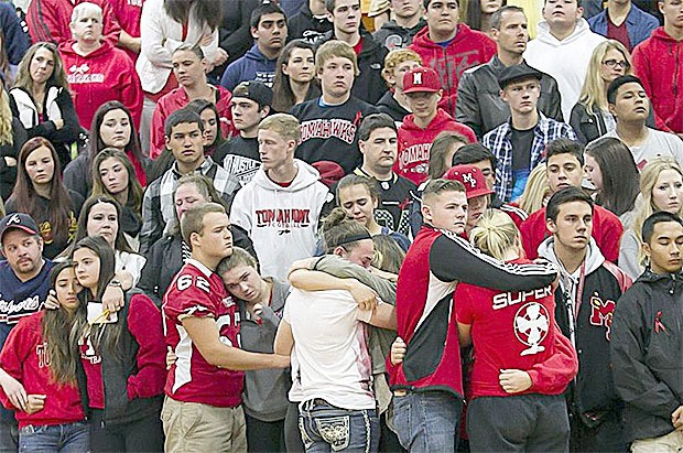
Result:
M550 193L565 187L581 187L584 175L584 149L579 143L557 139L548 144L546 174ZM545 208L532 213L519 228L522 236L522 246L527 258L534 259L539 256L539 245L551 235L545 222ZM624 233L621 220L615 214L601 206L593 209L593 237L598 248L608 261L617 262L619 258L619 240Z

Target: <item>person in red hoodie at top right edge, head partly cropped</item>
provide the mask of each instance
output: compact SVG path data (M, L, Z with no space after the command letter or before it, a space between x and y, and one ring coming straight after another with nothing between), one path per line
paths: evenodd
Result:
M683 4L679 0L657 3L664 26L633 50L633 71L652 100L657 128L683 134L683 73L679 55L683 47ZM672 87L675 87L672 89Z

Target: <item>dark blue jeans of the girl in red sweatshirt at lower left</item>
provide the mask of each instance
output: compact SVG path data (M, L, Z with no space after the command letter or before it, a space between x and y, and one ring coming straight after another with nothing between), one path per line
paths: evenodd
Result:
M19 430L20 452L82 453L90 449L90 432L85 421L35 427Z

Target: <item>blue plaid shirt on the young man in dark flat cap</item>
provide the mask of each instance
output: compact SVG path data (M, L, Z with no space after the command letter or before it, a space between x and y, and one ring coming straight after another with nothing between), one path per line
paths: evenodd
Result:
M496 166L496 194L503 202L512 197L512 143L510 134L512 126L510 121L503 122L491 130L481 139L481 144L491 150L498 161ZM529 170L545 160L545 144L555 139L576 140L576 133L570 125L546 118L539 111L539 123L533 128L533 142L531 143L531 160Z

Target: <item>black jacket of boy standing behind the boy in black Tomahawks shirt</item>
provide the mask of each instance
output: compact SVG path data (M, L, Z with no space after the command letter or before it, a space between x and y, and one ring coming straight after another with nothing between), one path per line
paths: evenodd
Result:
M319 41L319 44L334 39L333 32L328 32ZM384 57L389 51L362 29L360 30L360 40L362 41L362 51L358 55L358 71L360 71L360 74L354 82L351 95L366 103L377 104L388 89L382 78L382 67L384 67Z

